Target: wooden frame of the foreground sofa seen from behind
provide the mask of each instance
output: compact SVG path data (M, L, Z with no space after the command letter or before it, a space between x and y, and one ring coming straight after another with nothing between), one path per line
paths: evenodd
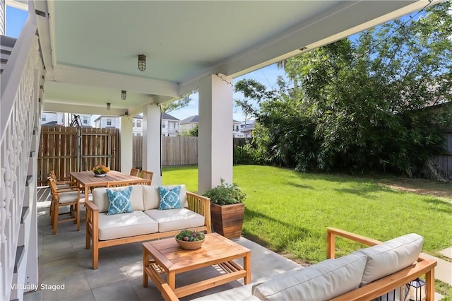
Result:
M335 237L344 237L355 242L366 244L369 247L376 244L381 244L379 240L373 240L368 237L357 235L352 232L343 231L336 228L326 229L326 256L328 259L335 258ZM400 288L401 286L415 280L416 278L425 275L425 282L427 283L427 301L434 301L434 268L436 261L434 259L425 259L422 254L418 257L417 262L403 268L396 273L392 273L377 281L369 283L368 285L352 290L349 293L335 297L331 301L353 301L353 300L374 300L386 293ZM167 283L162 284L162 296L165 301L177 301L177 295L169 288Z

